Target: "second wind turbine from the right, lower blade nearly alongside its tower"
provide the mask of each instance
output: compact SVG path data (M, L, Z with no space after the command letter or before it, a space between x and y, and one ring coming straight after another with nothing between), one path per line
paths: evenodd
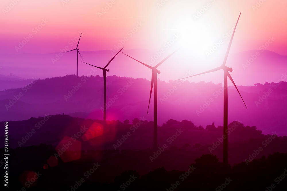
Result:
M143 62L140 62L134 58L132 58L131 56L127 55L128 57L132 58L133 60L136 60L137 62L143 64L144 66L152 69L152 80L151 80L151 87L150 87L150 97L152 96L152 87L154 85L154 151L156 151L157 145L158 145L158 89L157 89L157 74L160 74L160 70L157 69L158 66L160 66L160 64L162 64L164 61L166 61L170 56L172 56L172 54L174 54L175 52L177 52L179 49L177 49L176 51L172 52L170 55L168 55L166 58L164 58L160 63L158 63L156 66L152 67L149 66L148 64L145 64ZM148 108L150 107L150 100L148 102ZM148 115L148 112L147 114Z

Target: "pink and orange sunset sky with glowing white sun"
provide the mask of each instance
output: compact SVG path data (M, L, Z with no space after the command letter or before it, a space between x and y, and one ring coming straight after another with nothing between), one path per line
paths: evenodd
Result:
M199 63L213 61L207 53L220 41L214 59L223 60L242 12L231 54L258 50L275 38L266 50L287 55L286 7L284 0L2 0L0 52L60 52L75 47L82 33L80 51L166 48L170 54L184 45L177 56L187 66L191 55ZM197 69L207 66L217 65Z

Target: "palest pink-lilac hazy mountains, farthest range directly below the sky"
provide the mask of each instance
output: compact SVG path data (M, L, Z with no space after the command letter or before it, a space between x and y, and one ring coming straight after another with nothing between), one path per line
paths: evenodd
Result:
M187 50L185 50L187 48ZM174 49L175 50L175 49ZM173 50L164 50L164 53L157 56L158 50L132 49L123 52L133 56L141 62L155 66L158 62L168 56ZM105 66L115 55L111 50L104 51L80 51L84 62L99 67ZM203 72L202 66L206 69L218 67L222 64L225 50L217 52L218 55L203 61L198 61L197 56L184 47L176 54L171 56L158 69L161 74L158 78L168 82L182 78L188 73ZM154 59L156 58L156 59ZM79 76L90 74L92 67L81 62L79 57ZM249 62L247 62L249 61ZM51 78L54 76L65 76L66 74L76 73L76 53L47 53L47 54L0 54L1 74L9 75L11 71L15 75L25 78ZM253 85L254 83L276 82L281 78L282 73L287 71L287 56L279 55L268 50L249 50L230 54L227 60L227 66L233 67L232 78L238 85ZM126 76L132 78L150 79L151 71L145 66L140 66L135 60L118 54L118 56L109 65L107 75ZM200 66L198 66L200 65ZM210 68L211 69L211 68ZM222 75L221 75L222 74ZM95 75L102 75L101 70L97 70ZM223 73L214 72L212 74L196 76L189 78L190 81L223 83ZM285 80L286 81L286 80Z

